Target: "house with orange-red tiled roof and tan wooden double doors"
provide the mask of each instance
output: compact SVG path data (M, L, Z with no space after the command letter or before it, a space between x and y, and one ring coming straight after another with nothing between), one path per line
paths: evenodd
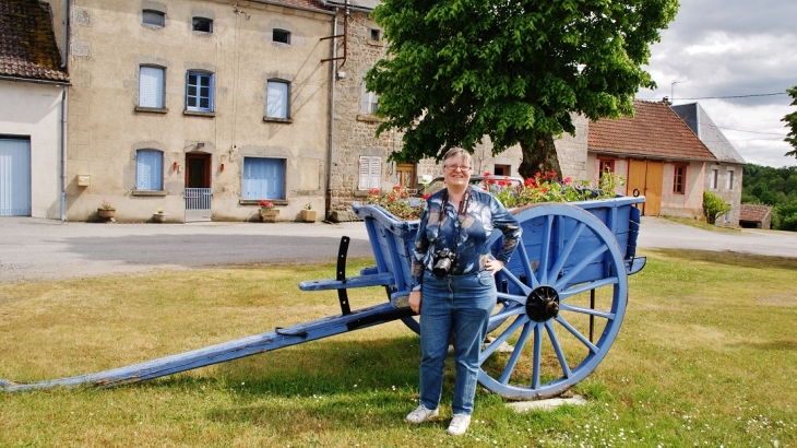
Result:
M590 122L587 140L588 176L622 175L618 192L645 196L644 215L702 217L705 178L718 161L669 104L635 101L633 117Z

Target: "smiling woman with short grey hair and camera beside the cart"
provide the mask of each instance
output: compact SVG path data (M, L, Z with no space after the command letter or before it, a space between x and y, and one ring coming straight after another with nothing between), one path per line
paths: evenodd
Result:
M493 274L509 261L521 228L492 194L471 187L471 154L460 148L445 153L447 188L432 194L420 216L412 258L409 307L420 315L420 405L406 420L423 423L438 415L443 366L453 335L456 379L450 435L471 424L479 368L479 351L496 306ZM505 236L493 259L489 237Z

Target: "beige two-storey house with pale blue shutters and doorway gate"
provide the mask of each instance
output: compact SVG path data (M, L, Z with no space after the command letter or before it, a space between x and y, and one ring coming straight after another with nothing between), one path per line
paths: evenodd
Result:
M69 16L67 220L323 209L334 12L318 1L52 0ZM63 39L61 39L63 40ZM60 42L63 46L64 43Z

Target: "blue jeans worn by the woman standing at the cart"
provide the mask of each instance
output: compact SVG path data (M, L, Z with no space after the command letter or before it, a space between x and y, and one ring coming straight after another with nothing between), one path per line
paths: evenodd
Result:
M436 278L424 273L420 302L420 404L437 409L443 367L453 333L456 377L451 404L454 414L471 415L476 394L479 352L496 306L490 271Z

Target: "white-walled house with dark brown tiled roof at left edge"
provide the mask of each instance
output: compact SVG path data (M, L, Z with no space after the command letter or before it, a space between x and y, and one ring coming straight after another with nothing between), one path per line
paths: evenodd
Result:
M63 213L68 86L49 4L0 0L0 216Z

